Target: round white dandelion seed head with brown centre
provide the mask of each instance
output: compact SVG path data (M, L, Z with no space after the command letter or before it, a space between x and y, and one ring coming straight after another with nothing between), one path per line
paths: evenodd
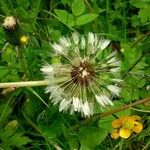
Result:
M50 82L46 93L50 93L54 105L59 105L59 111L90 117L95 105L113 105L112 98L119 96L122 80L117 53L106 49L109 43L90 32L88 36L72 33L70 38L61 37L52 44L62 62L46 64L41 71Z

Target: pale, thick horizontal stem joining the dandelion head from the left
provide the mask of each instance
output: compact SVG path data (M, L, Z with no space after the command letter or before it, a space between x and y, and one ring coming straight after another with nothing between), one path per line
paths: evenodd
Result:
M31 87L31 86L46 86L49 84L49 81L24 81L24 82L10 82L10 83L0 83L0 88L9 88L9 87Z

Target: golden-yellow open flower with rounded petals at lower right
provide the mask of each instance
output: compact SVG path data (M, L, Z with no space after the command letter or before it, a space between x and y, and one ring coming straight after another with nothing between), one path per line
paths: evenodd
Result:
M122 116L112 122L112 127L115 128L111 133L111 137L117 139L119 137L129 138L133 132L140 133L143 130L143 125L139 123L141 117L137 115Z

